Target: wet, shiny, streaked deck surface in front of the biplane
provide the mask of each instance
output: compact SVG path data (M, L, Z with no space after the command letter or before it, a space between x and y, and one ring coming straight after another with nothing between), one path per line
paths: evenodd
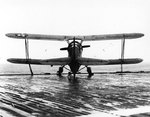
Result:
M0 115L76 117L98 111L123 116L113 112L150 105L149 76L96 74L88 79L86 75L78 75L76 82L55 75L0 76Z

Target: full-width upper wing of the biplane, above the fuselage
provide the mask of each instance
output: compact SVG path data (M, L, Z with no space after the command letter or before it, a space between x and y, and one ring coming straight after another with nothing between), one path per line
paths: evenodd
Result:
M116 39L134 39L144 36L142 33L125 33L125 34L105 34L105 35L87 35L87 36L65 36L65 35L41 35L41 34L26 34L26 33L8 33L6 36L17 39L35 39L35 40L57 40L64 41L80 39L82 41L97 41L97 40L116 40Z

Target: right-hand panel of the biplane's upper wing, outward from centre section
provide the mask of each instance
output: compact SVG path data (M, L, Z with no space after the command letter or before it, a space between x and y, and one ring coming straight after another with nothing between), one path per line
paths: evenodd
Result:
M105 34L105 35L91 35L84 36L84 41L97 40L117 40L117 39L135 39L144 36L142 33L125 33L125 34Z

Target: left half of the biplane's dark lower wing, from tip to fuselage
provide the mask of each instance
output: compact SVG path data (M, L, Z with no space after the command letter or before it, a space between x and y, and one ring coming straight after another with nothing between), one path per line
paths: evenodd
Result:
M54 59L19 59L10 58L7 61L17 64L36 64L36 65L67 65L70 62L70 58L54 58Z

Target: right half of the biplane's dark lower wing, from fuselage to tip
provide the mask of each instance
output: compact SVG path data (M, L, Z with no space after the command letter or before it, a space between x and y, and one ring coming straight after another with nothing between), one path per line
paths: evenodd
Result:
M140 58L130 58L130 59L93 59L93 58L78 58L81 65L117 65L117 64L136 64L143 60Z

